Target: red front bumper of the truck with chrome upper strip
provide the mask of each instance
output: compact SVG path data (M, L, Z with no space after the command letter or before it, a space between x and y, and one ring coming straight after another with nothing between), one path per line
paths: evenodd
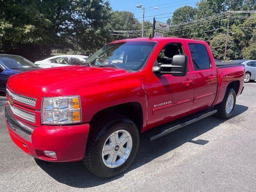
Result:
M38 126L31 131L20 126L5 106L6 125L12 141L34 158L52 162L73 162L82 160L89 134L89 124L69 126ZM24 122L21 122L24 123ZM43 150L54 151L57 158L44 155Z

